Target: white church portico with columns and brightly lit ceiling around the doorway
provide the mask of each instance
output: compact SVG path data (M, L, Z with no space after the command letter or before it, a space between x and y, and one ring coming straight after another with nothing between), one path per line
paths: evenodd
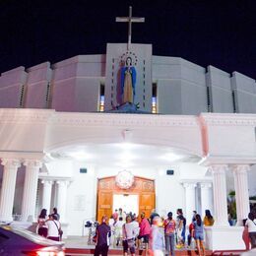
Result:
M17 114L18 111L22 116L23 110L19 109L15 112ZM23 124L31 127L33 121L28 116L36 115L38 112L34 109L28 114L26 110L27 119ZM10 110L7 109L7 111L9 111L9 121L7 118L5 125L10 122L9 130L12 132L16 130L22 118L18 118L18 124L16 124L16 121L11 118ZM39 186L34 220L42 208L47 209L49 213L52 207L57 207L61 222L64 224L65 235L83 235L86 233L84 223L97 218L97 180L115 177L120 171L126 169L135 177L139 176L155 182L155 206L160 216L166 216L169 211L175 214L177 208L182 208L189 223L192 211L196 210L203 217L205 210L210 209L216 220L215 226L206 228L208 245L214 246L210 248L232 248L231 244L223 244L223 238L218 238L224 237L226 232L231 230L233 239L237 241L237 248L243 249L242 227L230 227L227 224L226 195L229 191L225 178L227 170L232 170L234 177L232 189L237 191L237 217L241 220L248 211L244 202L246 203L245 199L248 197L246 189L248 192L252 184L247 175L250 175L252 170L255 171L253 166L252 170L249 168L255 159L252 157L253 152L250 151L243 153L247 154L243 159L235 156L232 152L235 146L230 145L235 136L232 125L239 123L239 118L244 120L244 116L235 115L235 124L232 124L232 115L230 122L226 122L226 116L223 122L222 117L222 115L210 114L197 117L51 111L48 118L43 121L44 130L41 129L41 125L38 126L40 128L35 127L43 137L43 144L40 147L37 147L36 142L38 142L37 139L39 142L42 140L35 136L36 133L31 134L30 139L34 141L35 146L37 145L34 149L27 143L28 133L17 133L19 145L12 146L14 152L12 158L9 156L9 159L15 160L17 164L6 166L11 169L8 173L12 174L14 184L15 173L20 171L19 166L22 165L25 168L22 182L17 183L14 188L14 191L22 188L23 199L19 202L18 198L14 198L13 204L10 204L8 199L8 207L1 208L1 211L8 212L9 221L11 221L14 205L21 204L21 211L19 210L17 214L22 215L22 220L28 221L35 204L28 204L28 200L34 202L34 193L29 194L28 190L29 187L33 191L36 190L37 185L34 184L36 183ZM252 149L251 135L254 135L253 118L254 116L251 116L248 122L241 122L237 128L237 134L240 133L239 127L250 134L247 141L243 139L243 143L249 145L250 150ZM220 126L224 134L223 140L217 140L220 135L215 134ZM29 128L26 129L29 130ZM239 138L237 137L236 142ZM7 145L3 135L1 140L2 145ZM23 156L15 153L15 148L21 145L24 151ZM245 148L245 146L242 147ZM205 154L211 151L217 152L218 148L221 149L221 155L229 152L232 157L221 156L213 160ZM39 149L44 153L44 158L41 153L36 153ZM28 151L31 156L40 154L40 158L28 158ZM2 156L4 157L4 154ZM40 162L43 163L41 168ZM2 163L5 163L5 160L2 160ZM6 166L2 167L3 174ZM2 198L7 196L3 193L6 190L5 179L4 175L0 179L2 188L0 198L4 206L6 201L2 201ZM246 180L248 180L247 184ZM29 187L25 186L26 182ZM124 194L129 193L122 192L119 195ZM147 204L142 205L143 209L149 208ZM107 206L107 204L101 205ZM143 209L141 208L141 211ZM109 212L112 211L110 207Z

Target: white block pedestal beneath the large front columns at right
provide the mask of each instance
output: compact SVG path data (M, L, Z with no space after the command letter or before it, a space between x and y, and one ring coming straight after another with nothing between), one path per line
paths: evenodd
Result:
M206 248L210 250L245 250L248 248L244 226L206 226Z

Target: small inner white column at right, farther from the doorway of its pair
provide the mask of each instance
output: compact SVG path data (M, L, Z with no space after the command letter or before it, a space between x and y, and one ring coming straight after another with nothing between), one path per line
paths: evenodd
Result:
M212 182L202 182L201 187L201 214L202 218L205 216L205 211L210 210L211 214L214 215L213 211L213 190Z

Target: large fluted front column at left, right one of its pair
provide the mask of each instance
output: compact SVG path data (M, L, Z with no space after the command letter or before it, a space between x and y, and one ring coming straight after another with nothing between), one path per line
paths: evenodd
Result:
M38 160L26 160L25 183L23 190L22 221L32 222L35 212L35 201L38 184L38 173L41 162Z

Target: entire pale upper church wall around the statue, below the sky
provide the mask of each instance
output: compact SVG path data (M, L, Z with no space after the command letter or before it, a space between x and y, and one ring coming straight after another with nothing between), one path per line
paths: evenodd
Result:
M140 110L152 111L156 83L158 113L256 113L255 80L213 66L206 71L178 57L153 56L151 44L132 44L127 51L126 43L108 43L106 55L78 55L2 73L0 107L95 112L100 85L104 85L105 110L110 110L121 103L120 68L127 54L136 60L134 102L140 103Z

